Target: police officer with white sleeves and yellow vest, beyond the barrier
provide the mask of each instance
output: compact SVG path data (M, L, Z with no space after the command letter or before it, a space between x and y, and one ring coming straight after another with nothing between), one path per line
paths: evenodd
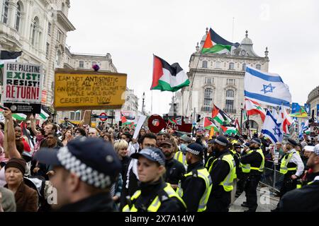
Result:
M297 179L303 174L303 161L300 154L294 149L296 141L289 138L284 148L284 155L281 157L280 173L284 174L284 182L280 189L280 197L284 196L287 191L296 189Z

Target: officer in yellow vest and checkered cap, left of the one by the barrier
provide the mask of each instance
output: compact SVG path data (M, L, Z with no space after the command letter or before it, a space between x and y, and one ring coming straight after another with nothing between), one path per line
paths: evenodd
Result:
M218 136L216 143L216 159L208 169L213 185L206 211L228 212L236 173L235 160L227 148L228 140L225 136Z

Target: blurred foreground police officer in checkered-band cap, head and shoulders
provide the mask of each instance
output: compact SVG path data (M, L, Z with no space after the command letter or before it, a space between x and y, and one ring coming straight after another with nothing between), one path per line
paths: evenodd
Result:
M83 136L59 150L41 148L35 159L55 171L50 182L57 189L57 203L52 208L62 212L115 210L110 188L121 162L111 144Z

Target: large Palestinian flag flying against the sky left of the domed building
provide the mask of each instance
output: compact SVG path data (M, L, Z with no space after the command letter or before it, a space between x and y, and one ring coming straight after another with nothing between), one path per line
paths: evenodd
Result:
M151 90L171 91L189 86L189 78L178 63L169 65L167 61L154 55L153 81Z

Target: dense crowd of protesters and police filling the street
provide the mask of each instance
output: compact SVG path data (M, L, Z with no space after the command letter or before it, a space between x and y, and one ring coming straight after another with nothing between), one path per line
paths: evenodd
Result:
M242 206L256 211L257 184L269 162L281 162L296 150L289 177L297 175L293 180L307 186L318 174L318 141L306 137L273 145L262 135L209 138L172 129L155 134L142 127L133 138L134 129L117 124L91 128L65 118L62 124L48 119L39 125L32 115L15 121L9 109L4 117L0 211L227 212L235 186L236 197L246 192ZM251 169L244 172L247 165ZM294 184L285 188L276 210L287 208L283 196ZM57 197L50 203L52 188Z

